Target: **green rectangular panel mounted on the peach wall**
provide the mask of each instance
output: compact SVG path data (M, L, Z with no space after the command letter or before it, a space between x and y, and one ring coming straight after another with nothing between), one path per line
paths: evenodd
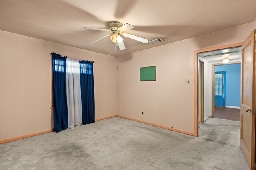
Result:
M141 67L140 81L156 81L156 66Z

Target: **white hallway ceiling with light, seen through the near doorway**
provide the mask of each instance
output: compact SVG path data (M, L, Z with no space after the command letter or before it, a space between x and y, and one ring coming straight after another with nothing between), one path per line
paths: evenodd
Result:
M220 63L224 58L228 58L229 61L240 61L241 47L199 53L198 56L209 63Z

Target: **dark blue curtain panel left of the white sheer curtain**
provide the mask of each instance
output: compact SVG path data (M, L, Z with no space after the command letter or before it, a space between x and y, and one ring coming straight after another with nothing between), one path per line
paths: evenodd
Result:
M66 59L67 57L52 53L53 121L56 132L68 128Z

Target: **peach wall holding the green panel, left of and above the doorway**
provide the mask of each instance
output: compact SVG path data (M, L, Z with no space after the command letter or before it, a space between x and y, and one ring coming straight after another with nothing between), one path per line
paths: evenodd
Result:
M253 29L254 22L120 57L117 115L194 133L194 51L242 42ZM156 81L140 82L145 66L156 66Z

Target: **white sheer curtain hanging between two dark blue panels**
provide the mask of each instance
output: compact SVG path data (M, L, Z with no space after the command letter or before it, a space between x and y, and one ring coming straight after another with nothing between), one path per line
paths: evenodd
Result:
M68 103L68 128L82 124L82 102L80 86L80 64L78 60L67 58L66 90Z

